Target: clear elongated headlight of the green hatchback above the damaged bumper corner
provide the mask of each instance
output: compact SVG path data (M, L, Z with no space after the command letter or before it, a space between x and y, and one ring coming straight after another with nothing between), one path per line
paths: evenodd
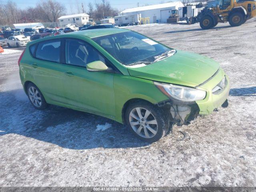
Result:
M173 84L165 84L154 82L154 84L169 98L191 102L196 100L202 100L206 96L206 91L189 88L184 86L178 86Z

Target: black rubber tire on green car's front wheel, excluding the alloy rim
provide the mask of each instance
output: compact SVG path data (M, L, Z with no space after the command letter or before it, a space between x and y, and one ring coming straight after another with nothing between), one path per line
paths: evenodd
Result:
M151 138L144 138L140 135L138 135L135 130L132 128L131 124L130 124L130 112L132 110L134 110L135 108L144 108L146 110L149 110L152 114L152 117L156 120L157 122L157 131L156 131L156 134L151 137ZM143 110L143 109L142 109ZM142 112L143 114L143 112ZM145 114L144 114L145 116ZM158 141L160 138L164 137L167 132L168 132L168 129L169 129L169 122L166 118L166 116L164 115L164 112L162 111L161 108L149 103L149 102L146 102L146 101L137 101L137 102L134 102L132 104L130 104L127 109L126 109L126 113L125 113L125 121L126 121L126 125L130 128L130 130L132 131L132 133L137 137L139 138L140 140L144 141L144 142L149 142L149 143L153 143L153 142L156 142ZM146 120L145 120L146 122ZM147 124L146 124L147 125ZM148 124L149 125L149 124ZM141 125L138 124L138 127L140 127ZM145 131L144 131L145 128L142 128L142 133L145 134ZM147 129L148 130L148 129ZM152 134L152 132L150 132L150 134Z

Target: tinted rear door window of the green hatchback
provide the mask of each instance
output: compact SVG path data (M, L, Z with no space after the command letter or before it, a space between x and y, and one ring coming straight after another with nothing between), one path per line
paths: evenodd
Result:
M52 62L60 62L60 40L38 43L36 58Z

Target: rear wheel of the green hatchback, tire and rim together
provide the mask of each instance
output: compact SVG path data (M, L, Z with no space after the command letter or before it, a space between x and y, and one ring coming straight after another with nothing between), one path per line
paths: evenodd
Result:
M34 108L38 110L44 110L48 107L48 104L46 103L44 96L35 84L28 84L28 86L26 87L26 92Z

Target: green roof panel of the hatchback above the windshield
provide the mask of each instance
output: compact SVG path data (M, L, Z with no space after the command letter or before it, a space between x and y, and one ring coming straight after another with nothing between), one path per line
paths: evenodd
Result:
M127 31L130 31L130 30L120 29L120 28L104 28L104 29L82 30L78 32L72 32L72 34L83 35L88 38L95 38L95 37L106 36L106 35L111 35L116 33L127 32Z

